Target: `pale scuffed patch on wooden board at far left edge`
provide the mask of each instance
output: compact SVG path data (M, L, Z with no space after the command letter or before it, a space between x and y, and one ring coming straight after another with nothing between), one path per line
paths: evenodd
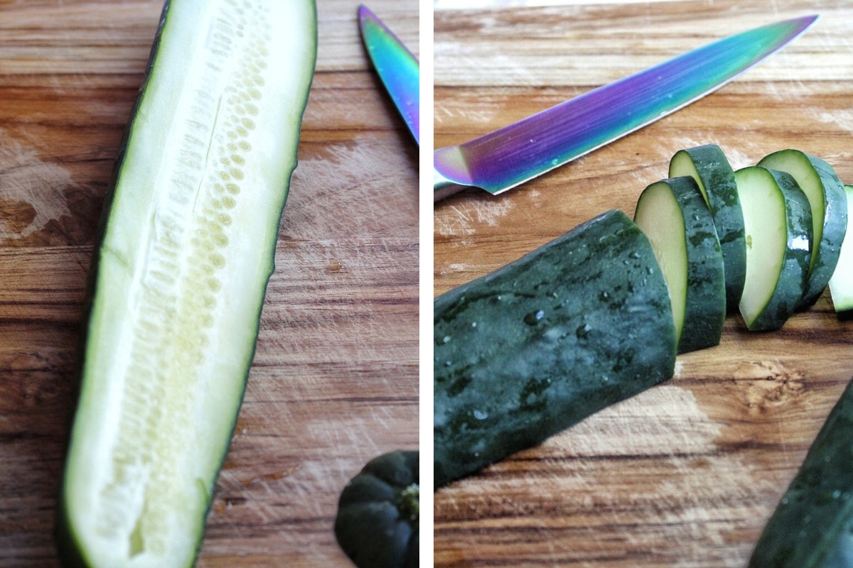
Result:
M0 204L24 204L32 209L26 226L0 209L0 239L26 238L49 221L71 215L63 193L72 184L71 174L58 164L44 162L38 150L0 129Z

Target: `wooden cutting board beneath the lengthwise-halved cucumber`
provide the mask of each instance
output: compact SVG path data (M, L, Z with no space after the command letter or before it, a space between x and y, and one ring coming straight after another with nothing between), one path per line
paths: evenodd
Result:
M351 565L339 491L415 448L417 146L357 5L318 0L319 54L258 351L199 566ZM414 0L374 12L418 49ZM59 565L55 496L96 224L162 2L0 4L0 565Z

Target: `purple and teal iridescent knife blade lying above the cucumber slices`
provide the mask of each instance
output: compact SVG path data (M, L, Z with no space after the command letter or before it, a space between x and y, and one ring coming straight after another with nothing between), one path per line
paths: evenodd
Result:
M433 155L434 198L465 186L497 194L699 100L798 37L816 15L693 49Z

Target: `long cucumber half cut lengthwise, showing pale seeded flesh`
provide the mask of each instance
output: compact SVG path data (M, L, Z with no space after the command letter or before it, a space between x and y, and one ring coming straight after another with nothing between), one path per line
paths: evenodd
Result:
M194 563L316 59L312 0L171 0L107 194L56 525L65 565Z

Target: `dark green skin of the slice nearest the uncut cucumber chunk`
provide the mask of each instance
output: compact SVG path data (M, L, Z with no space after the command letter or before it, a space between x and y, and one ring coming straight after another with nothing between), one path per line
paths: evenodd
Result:
M687 245L687 298L678 353L714 347L720 343L726 318L726 287L722 250L711 212L692 177L659 183L670 187L682 211Z

